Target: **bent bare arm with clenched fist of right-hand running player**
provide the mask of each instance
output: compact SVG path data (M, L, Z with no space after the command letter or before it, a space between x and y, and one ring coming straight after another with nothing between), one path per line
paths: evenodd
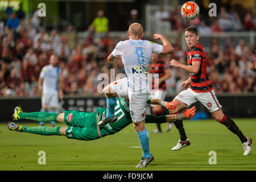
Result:
M199 72L201 63L200 61L193 61L192 65L185 65L185 64L179 63L179 61L176 61L175 59L172 59L170 61L170 65L175 68L181 68L184 71L187 71L189 73L197 74Z

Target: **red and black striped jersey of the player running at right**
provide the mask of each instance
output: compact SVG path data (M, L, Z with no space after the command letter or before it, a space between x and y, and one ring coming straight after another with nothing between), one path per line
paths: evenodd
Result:
M197 93L213 90L212 82L208 78L206 53L201 44L198 43L195 47L188 49L187 61L188 65L192 65L193 61L201 63L197 74L190 73L191 89Z

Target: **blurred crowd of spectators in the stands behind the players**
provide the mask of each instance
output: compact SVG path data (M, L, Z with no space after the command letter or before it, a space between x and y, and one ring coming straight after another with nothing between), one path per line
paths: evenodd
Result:
M132 14L138 12L133 10ZM253 13L248 11L241 17L237 11L227 12L224 7L211 24L207 19L200 18L184 22L179 9L171 12L170 17L172 31L182 32L187 26L194 25L200 34L216 31L255 31L256 24ZM97 87L102 80L97 77L100 73L106 73L110 77L110 68L115 69L115 75L125 73L121 60L113 64L106 61L117 42L125 40L125 37L117 40L109 37L107 33L96 41L97 32L95 27L90 26L86 31L85 40L82 40L83 43L77 44L76 32L72 26L68 26L64 32L46 31L40 27L40 17L36 14L28 23L25 23L24 18L25 14L19 10L11 13L6 21L0 20L1 97L40 96L38 78L42 67L49 64L49 56L52 53L59 56L59 67L64 75L63 91L69 96L99 96L101 93ZM94 24L97 23L100 22ZM104 23L108 26L106 19ZM160 59L167 64L171 59L186 63L187 50L181 49L180 44L178 41L172 43L174 53L161 55ZM213 38L207 56L209 77L217 93L256 92L256 75L249 69L249 63L255 60L254 44L241 40L235 45L232 38L229 38L224 48L220 48L217 39ZM171 73L171 78L167 80L167 93L179 93L183 89L181 82L189 75L176 68L171 68Z

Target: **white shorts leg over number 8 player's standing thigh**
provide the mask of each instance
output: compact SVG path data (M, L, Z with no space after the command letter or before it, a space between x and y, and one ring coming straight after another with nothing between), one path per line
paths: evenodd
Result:
M131 119L141 122L146 118L146 104L149 93L135 93L128 90Z

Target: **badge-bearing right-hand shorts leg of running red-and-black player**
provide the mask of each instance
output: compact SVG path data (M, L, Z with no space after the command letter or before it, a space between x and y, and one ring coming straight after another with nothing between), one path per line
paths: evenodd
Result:
M216 97L215 91L211 90L209 92L205 93L196 93L196 98L201 104L203 104L210 113L214 113L215 111L218 111L221 109L220 102L218 102L218 99ZM219 113L219 112L217 112ZM222 113L222 111L221 111Z

